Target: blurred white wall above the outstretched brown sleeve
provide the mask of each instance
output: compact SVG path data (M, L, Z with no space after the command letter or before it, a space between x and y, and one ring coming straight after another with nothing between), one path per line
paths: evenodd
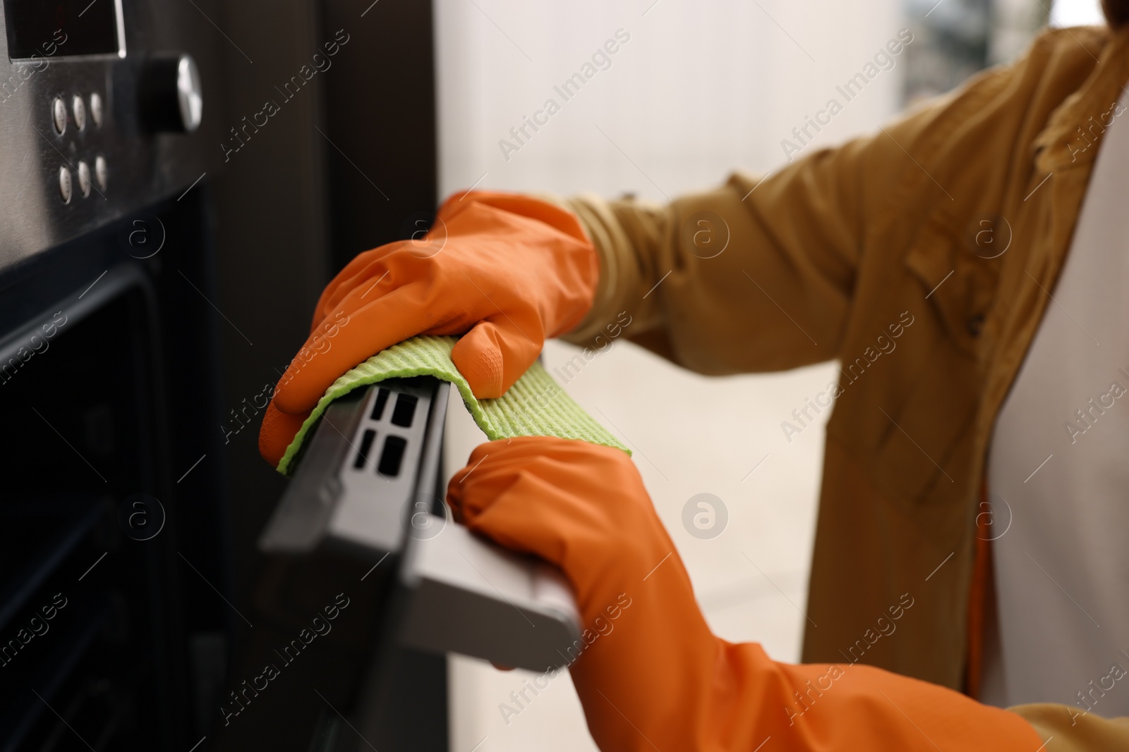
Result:
M780 140L900 26L895 0L658 0L644 16L650 2L438 0L444 192L487 172L489 187L662 198L659 188L712 185L735 166L771 168ZM619 28L631 41L611 69L507 162L498 141ZM873 129L898 92L896 74L883 73L820 139Z

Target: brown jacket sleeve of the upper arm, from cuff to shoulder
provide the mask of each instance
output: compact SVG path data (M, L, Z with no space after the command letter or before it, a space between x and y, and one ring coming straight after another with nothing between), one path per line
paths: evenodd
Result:
M601 258L595 304L564 338L601 346L622 329L707 374L837 357L859 281L870 284L879 275L868 269L898 263L929 209L922 195L951 200L922 165L960 157L946 151L949 135L996 112L992 103L1019 107L1008 96L1022 97L1007 91L1024 70L992 69L870 136L804 148L772 174L737 172L667 204L558 200L580 218Z

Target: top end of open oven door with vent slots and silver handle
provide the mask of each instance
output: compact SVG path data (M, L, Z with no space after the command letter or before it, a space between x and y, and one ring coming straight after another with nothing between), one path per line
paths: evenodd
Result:
M402 605L388 617L399 620L394 629L403 645L515 669L566 666L584 645L561 574L432 513L441 504L449 389L434 379L395 379L334 400L307 440L260 547L308 557L314 568L330 550L366 566L391 557ZM401 396L426 421L395 424L393 404ZM378 448L386 450L397 436L404 448L400 469L384 475Z

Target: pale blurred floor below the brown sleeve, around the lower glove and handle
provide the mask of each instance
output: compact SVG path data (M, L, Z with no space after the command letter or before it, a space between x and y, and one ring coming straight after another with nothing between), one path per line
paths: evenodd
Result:
M576 365L566 371L564 364L580 353L550 342L544 365L634 452L715 634L730 642L758 642L773 658L798 661L830 410L799 434L793 432L790 442L780 424L793 421L794 409L834 380L834 364L707 378L616 342L592 360L581 355L579 371ZM448 472L485 441L457 395L453 399ZM682 522L686 502L703 493L720 499L714 505L724 505L728 515L712 538L702 538L701 530L692 536ZM567 673L517 716L506 717L500 705L511 702L510 692L520 690L532 674L498 671L460 656L449 660L449 669L452 752L596 749Z

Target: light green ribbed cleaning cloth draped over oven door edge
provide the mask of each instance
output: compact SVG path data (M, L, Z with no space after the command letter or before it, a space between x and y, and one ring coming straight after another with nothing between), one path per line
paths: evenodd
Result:
M303 441L334 399L365 384L414 375L430 375L455 384L474 422L491 441L515 436L558 436L581 439L631 453L631 450L572 401L541 363L530 366L501 397L475 398L466 379L450 360L450 351L456 342L458 337L413 337L380 351L334 381L287 446L279 461L279 472L290 474Z

